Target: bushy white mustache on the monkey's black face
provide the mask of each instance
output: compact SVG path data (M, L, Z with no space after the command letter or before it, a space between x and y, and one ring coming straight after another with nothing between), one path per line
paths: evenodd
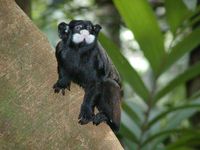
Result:
M88 30L81 30L80 34L79 33L75 33L73 35L72 41L76 44L81 43L85 40L85 42L87 44L91 44L94 42L95 40L95 36L90 34Z

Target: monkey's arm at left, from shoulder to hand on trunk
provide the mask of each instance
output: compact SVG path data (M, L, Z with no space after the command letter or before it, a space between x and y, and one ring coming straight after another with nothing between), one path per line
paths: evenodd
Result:
M67 74L67 72L64 69L64 66L61 62L61 51L62 51L62 46L61 46L61 42L59 42L56 46L56 59L57 59L57 71L58 71L58 81L54 84L53 88L54 88L54 92L55 93L59 93L60 90L62 90L62 94L65 94L65 89L67 88L68 90L70 90L70 83L71 83L71 79L69 77L69 75Z

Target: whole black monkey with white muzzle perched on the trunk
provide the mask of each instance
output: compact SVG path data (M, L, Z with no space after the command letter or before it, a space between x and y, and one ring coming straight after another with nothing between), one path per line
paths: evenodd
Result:
M113 131L120 126L121 81L120 76L97 37L100 25L90 21L72 20L58 25L61 41L56 46L58 81L55 93L70 90L71 81L80 85L84 99L79 114L79 123L92 121L98 125L106 122ZM94 108L98 113L94 113Z

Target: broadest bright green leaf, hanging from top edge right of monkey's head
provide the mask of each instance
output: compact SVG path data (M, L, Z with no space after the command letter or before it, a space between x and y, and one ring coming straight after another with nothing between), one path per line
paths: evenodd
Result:
M149 3L147 0L114 0L114 3L128 28L133 31L154 73L158 74L165 57L164 40Z

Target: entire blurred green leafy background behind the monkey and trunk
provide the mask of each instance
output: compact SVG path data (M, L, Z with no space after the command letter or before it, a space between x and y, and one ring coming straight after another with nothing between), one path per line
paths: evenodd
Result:
M125 149L200 149L200 1L26 2L53 47L62 21L103 27L99 40L123 79L117 137Z

